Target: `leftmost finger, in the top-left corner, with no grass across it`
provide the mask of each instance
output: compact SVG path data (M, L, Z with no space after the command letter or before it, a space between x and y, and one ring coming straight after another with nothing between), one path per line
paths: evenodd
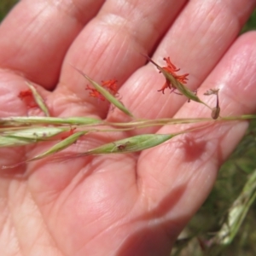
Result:
M52 88L73 39L103 0L23 0L0 26L0 65Z

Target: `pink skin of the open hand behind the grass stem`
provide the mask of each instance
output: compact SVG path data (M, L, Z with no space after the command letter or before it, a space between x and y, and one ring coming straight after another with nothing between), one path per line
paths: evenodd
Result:
M201 104L158 92L165 79L140 52L160 66L170 56L212 107L215 97L203 93L220 89L222 116L254 113L256 32L237 36L255 6L253 0L20 1L0 26L0 116L38 114L18 97L29 80L53 116L129 120L91 98L73 65L98 82L117 79L122 102L139 118L210 117ZM1 171L2 255L168 255L247 125L210 125L140 154L38 160ZM96 135L70 150L185 128ZM1 148L0 166L46 148Z

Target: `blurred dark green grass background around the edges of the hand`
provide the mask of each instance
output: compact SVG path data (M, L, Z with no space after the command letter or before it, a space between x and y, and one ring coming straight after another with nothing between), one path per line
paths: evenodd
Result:
M17 3L17 0L0 0L0 20ZM256 11L247 20L242 32L256 30ZM256 47L256 42L255 42ZM256 60L255 60L256 61ZM255 71L256 72L256 71ZM255 84L256 86L256 84ZM246 136L237 146L218 175L218 180L212 189L212 193L195 217L189 222L177 241L172 255L219 255L219 256L254 256L256 255L256 202L247 213L247 217L229 246L220 250L207 251L203 244L218 232L225 220L230 206L241 193L241 189L247 181L247 177L256 170L256 121L252 121ZM204 242L200 242L204 241Z

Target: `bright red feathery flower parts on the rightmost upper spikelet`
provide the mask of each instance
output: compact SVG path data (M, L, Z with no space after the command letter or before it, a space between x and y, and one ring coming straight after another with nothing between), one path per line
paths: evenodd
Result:
M177 75L177 71L180 70L180 68L177 68L176 66L174 66L170 60L170 57L168 58L164 58L164 61L166 61L167 67L162 67L167 73L172 74L172 76L174 77L174 79L177 79L178 82L180 82L181 84L187 84L187 80L188 80L188 75L189 73L185 73L183 75ZM172 91L176 90L176 87L171 84L171 82L166 79L166 83L162 86L162 88L158 91L162 91L163 94L165 94L165 90L169 88Z

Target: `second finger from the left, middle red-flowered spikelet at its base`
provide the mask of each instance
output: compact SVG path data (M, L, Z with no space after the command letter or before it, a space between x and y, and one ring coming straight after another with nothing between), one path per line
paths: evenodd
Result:
M154 48L184 3L165 0L147 3L143 0L107 1L69 50L56 97L76 95L80 102L90 103L84 104L84 112L103 117L108 108L101 101L90 98L88 91L84 90L87 81L70 64L99 83L117 79L121 85L143 64L138 52ZM61 104L64 105L58 102L58 106Z

